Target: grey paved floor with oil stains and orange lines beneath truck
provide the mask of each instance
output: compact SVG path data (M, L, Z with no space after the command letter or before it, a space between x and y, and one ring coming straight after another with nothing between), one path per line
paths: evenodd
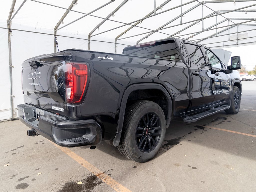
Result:
M0 191L255 191L256 82L242 84L237 115L175 119L158 155L143 164L105 142L63 148L27 137L18 120L1 122Z

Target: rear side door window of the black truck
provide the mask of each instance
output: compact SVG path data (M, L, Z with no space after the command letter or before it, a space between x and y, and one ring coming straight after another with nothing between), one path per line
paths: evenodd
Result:
M188 56L192 63L200 66L206 65L202 51L198 46L185 43L185 47L187 48Z

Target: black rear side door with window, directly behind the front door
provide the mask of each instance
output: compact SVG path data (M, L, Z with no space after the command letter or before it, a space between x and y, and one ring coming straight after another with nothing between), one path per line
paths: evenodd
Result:
M205 56L200 47L193 43L184 43L191 70L191 110L211 105L214 101L214 73L206 65Z

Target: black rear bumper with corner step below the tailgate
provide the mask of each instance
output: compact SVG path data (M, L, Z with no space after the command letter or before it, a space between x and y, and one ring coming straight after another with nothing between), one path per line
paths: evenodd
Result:
M70 121L28 104L18 105L17 108L20 121L58 145L79 146L101 142L102 129L95 120Z

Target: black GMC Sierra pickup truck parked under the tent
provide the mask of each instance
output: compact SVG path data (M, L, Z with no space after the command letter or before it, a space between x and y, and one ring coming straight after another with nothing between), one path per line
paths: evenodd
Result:
M174 117L194 122L240 108L240 57L226 67L200 44L178 38L126 47L123 54L68 49L22 63L19 119L62 146L117 146L146 162Z

